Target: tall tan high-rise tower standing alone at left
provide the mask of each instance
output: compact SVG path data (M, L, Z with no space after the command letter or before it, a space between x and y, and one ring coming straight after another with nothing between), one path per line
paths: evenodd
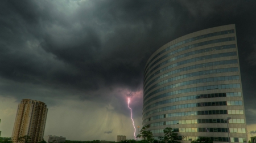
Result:
M19 137L30 136L32 143L42 141L47 111L47 105L44 102L23 99L18 106L11 140L18 142Z

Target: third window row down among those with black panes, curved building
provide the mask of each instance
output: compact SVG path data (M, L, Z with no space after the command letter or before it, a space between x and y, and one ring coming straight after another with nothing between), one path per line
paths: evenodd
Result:
M169 114L152 116L150 118L144 119L143 123L148 122L150 120L171 118L175 116L219 115L219 114L242 115L243 110L207 110L207 111L174 112Z

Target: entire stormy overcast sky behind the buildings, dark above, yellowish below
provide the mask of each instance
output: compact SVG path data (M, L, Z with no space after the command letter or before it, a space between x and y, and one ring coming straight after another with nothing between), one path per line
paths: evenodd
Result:
M236 24L247 129L256 130L256 1L0 1L0 131L18 103L48 105L44 135L133 138L147 59L185 34Z

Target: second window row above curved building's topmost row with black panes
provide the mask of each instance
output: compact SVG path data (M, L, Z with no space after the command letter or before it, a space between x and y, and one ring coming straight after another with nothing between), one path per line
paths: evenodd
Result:
M156 94L156 93L159 93L164 90L171 89L171 88L177 88L179 86L200 84L200 83L209 83L209 82L213 82L213 81L228 81L228 80L239 80L239 79L240 79L239 76L218 76L218 77L209 77L209 78L204 78L204 79L188 80L188 81L183 81L181 83L171 84L168 86L164 86L163 88L156 89L153 92L151 92L150 94L148 94L147 96L152 96L152 94ZM170 80L170 82L172 82L172 81ZM144 93L144 94L146 95L150 91L150 89L148 89L146 91L146 93Z

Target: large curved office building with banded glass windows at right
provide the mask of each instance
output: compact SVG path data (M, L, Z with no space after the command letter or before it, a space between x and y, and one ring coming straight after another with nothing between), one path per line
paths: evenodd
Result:
M155 138L171 127L181 142L246 142L234 24L187 34L151 55L144 69L143 126L148 124Z

